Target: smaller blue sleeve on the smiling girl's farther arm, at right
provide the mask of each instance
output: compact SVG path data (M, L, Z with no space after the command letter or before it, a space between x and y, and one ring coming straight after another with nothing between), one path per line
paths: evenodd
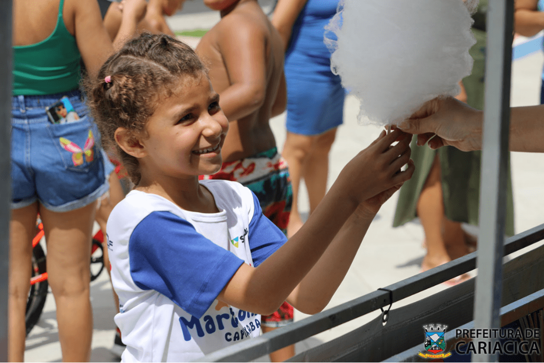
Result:
M251 222L249 223L248 238L251 258L253 259L254 266L257 267L277 249L282 247L287 242L287 237L270 219L264 216L255 194L253 194L253 203L255 208L253 218L251 218Z

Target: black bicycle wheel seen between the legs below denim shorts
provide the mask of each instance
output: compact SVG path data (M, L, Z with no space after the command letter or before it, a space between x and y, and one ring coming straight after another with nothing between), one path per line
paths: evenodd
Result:
M47 274L46 257L44 249L38 243L32 249L32 277ZM47 289L49 284L47 283L46 276L43 275L44 280L37 279L37 281L30 285L30 292L28 293L27 311L26 311L26 328L27 335L30 330L34 328L34 325L38 323L41 312L44 310L45 300L47 299Z

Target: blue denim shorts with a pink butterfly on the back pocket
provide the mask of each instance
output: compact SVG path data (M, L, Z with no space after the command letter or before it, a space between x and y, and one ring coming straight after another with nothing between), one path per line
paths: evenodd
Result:
M79 120L52 124L45 108L67 96ZM94 202L109 189L100 134L78 90L11 97L11 208L39 201L53 212Z

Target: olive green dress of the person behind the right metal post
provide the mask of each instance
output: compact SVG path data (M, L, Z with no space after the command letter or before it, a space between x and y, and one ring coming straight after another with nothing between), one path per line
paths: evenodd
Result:
M477 109L484 108L484 75L485 75L485 46L486 33L476 26L485 29L485 11L487 1L480 0L478 12L474 14L477 20L472 29L477 43L471 48L470 54L474 59L472 74L463 79L468 100L467 103ZM400 188L397 211L393 227L410 222L417 217L416 205L419 194L423 189L432 162L438 153L440 158L444 212L446 217L456 222L478 225L478 207L480 198L480 162L481 151L464 152L453 146L431 150L429 146L417 146L413 138L412 159L416 170L412 179ZM512 199L512 180L510 177L510 157L508 159L508 185L506 194L506 235L514 235L514 202Z

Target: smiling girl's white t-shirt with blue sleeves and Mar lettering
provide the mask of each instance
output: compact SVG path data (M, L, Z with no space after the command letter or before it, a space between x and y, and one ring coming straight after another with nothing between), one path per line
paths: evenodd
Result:
M242 184L201 184L221 212L189 212L133 190L110 214L123 361L191 361L260 334L260 315L216 298L242 263L258 266L286 237Z

